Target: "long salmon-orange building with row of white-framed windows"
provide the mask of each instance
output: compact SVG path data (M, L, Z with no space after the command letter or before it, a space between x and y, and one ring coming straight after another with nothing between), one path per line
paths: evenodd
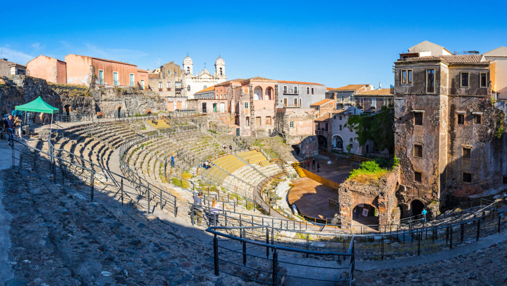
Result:
M95 69L95 83L98 85L140 88L148 84L148 72L138 70L133 64L73 54L65 56L65 62L68 84L88 86L90 66Z

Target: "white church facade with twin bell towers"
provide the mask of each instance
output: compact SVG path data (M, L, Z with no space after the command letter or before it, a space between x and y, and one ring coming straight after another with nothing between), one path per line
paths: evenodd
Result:
M215 72L211 74L206 67L198 74L193 72L194 63L187 55L183 60L183 74L184 74L184 89L188 99L194 99L194 94L198 91L206 89L210 86L223 83L227 81L225 73L225 62L219 56L215 61Z

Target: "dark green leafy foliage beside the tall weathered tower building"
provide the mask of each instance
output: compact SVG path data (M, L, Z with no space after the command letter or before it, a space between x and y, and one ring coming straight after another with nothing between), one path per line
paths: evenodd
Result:
M359 145L372 140L379 150L394 152L394 106L383 105L376 114L363 113L348 118L345 127L352 127Z

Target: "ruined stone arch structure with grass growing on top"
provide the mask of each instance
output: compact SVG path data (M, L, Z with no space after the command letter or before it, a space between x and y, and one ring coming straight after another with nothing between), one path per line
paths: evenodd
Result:
M360 203L366 203L378 210L379 225L388 225L399 219L394 214L397 210L396 189L400 179L400 168L382 176L378 181L359 183L354 179L340 184L338 190L338 212L343 226L352 223L352 211Z

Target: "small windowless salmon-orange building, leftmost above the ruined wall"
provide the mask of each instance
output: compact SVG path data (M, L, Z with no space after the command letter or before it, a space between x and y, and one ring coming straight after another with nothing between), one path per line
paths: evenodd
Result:
M67 83L67 64L55 58L40 55L26 64L28 74L46 79L49 83Z

